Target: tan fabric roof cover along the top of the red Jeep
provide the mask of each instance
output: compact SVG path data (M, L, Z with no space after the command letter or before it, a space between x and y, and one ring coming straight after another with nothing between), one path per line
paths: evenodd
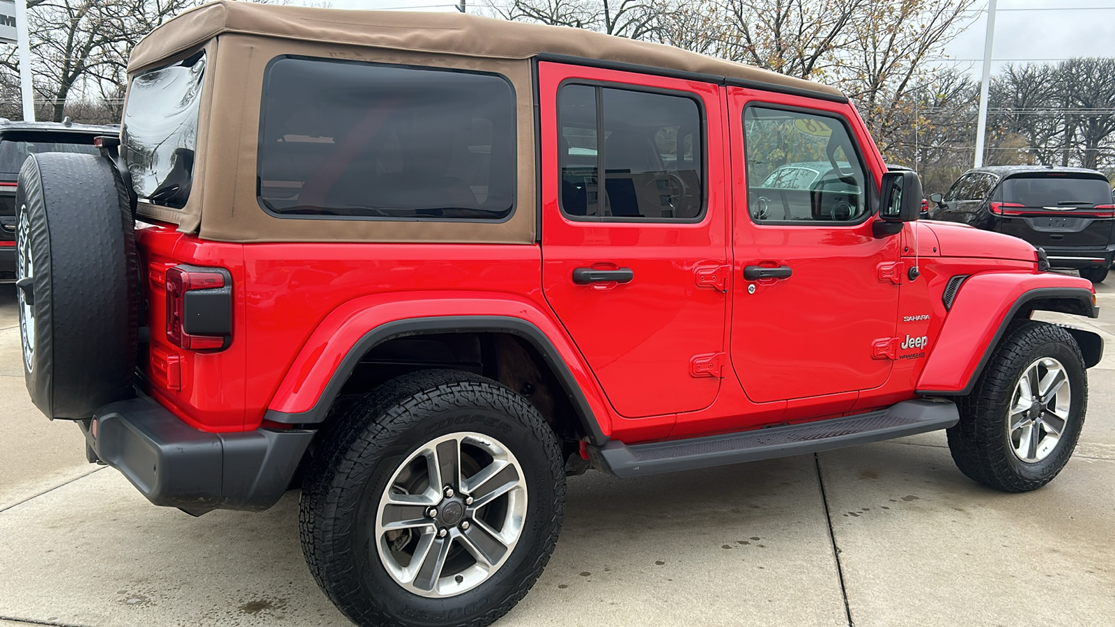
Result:
M830 97L840 90L660 44L588 30L513 22L457 12L347 11L217 0L184 11L136 45L133 74L196 48L223 32L394 50L529 59L565 55L726 77Z

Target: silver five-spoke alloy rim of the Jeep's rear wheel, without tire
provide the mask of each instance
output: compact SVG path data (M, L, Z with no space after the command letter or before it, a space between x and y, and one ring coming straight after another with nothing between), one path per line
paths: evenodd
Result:
M487 581L511 556L526 517L526 482L501 442L463 432L423 444L379 499L375 544L395 581L453 597Z

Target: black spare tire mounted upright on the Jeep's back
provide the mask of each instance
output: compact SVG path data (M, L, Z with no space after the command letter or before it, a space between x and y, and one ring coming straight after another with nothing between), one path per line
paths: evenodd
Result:
M127 191L108 160L31 155L16 194L27 390L50 418L132 396L138 273Z

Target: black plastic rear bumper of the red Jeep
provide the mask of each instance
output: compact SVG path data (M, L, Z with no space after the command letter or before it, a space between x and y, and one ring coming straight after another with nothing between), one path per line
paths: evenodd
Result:
M209 433L151 398L110 403L79 424L97 457L124 473L147 500L195 515L275 504L314 434Z

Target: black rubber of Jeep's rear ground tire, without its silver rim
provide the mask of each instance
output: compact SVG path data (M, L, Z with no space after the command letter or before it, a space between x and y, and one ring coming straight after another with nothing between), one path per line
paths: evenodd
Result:
M369 627L479 627L526 595L553 552L565 500L561 447L530 402L471 373L421 370L380 385L329 419L307 467L300 536L314 579L348 618ZM525 522L489 579L457 596L426 598L391 578L361 529L374 527L376 503L408 455L459 432L489 435L514 453L526 475Z

